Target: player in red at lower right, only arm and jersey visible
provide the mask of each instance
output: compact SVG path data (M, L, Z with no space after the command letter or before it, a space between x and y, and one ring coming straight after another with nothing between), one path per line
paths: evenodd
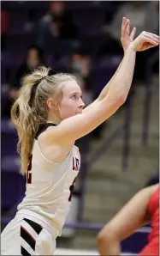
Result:
M159 255L159 185L138 192L98 234L100 255L120 255L120 242L151 222L151 234L139 255Z

